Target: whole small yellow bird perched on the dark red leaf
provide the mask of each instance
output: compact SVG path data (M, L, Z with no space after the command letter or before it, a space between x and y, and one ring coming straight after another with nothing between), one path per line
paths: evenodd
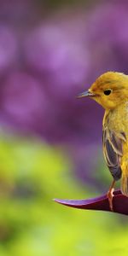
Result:
M113 185L121 178L121 192L128 196L128 75L103 73L90 89L78 97L89 96L105 108L102 121L103 154L113 183L108 201L113 211Z

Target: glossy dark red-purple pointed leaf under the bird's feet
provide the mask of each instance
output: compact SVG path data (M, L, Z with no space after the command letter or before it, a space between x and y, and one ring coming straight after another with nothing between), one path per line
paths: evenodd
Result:
M128 197L122 195L120 190L113 192L113 212L128 215ZM55 202L67 207L79 208L84 210L98 210L111 212L108 196L102 195L87 200L61 200L55 199Z

